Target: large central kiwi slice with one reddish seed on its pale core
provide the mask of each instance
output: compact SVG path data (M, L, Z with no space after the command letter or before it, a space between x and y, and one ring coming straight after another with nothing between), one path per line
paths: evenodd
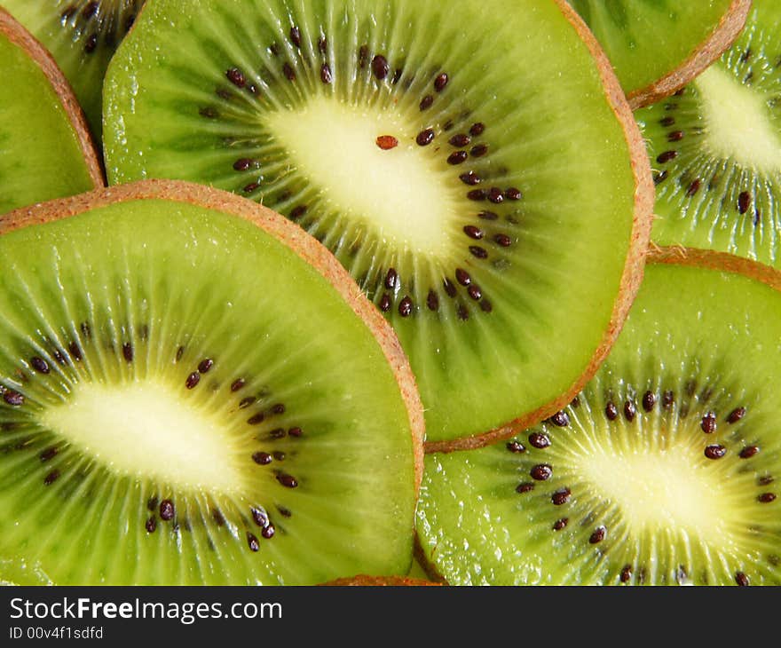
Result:
M431 443L556 411L634 295L649 164L567 4L161 0L105 93L112 182L230 190L335 253L396 329Z

